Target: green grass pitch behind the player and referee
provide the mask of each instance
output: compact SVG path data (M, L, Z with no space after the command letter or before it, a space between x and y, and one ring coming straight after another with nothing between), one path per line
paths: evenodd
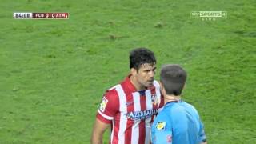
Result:
M190 16L206 10L227 18ZM70 18L13 19L19 11ZM102 94L141 46L157 57L156 79L165 63L187 70L184 99L209 143L256 143L255 14L253 0L1 0L0 143L90 143Z

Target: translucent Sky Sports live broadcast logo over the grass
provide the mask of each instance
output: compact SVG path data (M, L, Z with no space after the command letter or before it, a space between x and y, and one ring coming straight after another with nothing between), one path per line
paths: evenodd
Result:
M202 21L215 21L217 18L227 18L226 11L191 11L191 18L202 18Z

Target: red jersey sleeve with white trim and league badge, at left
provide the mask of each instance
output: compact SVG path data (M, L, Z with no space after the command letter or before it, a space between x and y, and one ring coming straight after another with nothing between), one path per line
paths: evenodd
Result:
M116 90L106 91L98 109L97 118L104 123L111 123L119 109L119 100Z

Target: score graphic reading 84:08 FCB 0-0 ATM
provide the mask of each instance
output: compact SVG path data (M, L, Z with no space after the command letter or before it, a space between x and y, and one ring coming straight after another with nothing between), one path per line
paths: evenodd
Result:
M14 12L14 19L68 19L69 13Z

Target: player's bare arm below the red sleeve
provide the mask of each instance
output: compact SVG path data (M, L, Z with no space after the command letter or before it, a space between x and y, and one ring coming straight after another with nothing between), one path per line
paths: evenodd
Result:
M91 135L90 143L91 144L102 144L103 134L105 130L110 126L110 124L102 122L96 118L94 122L94 129Z

